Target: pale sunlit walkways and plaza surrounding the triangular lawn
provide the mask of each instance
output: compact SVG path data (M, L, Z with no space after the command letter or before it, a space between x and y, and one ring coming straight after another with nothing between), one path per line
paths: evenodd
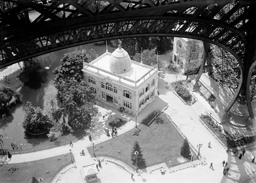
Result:
M168 169L164 167L165 174L161 174L158 167L155 171L150 171L150 167L145 170L142 170L142 173L134 173L134 180L131 179L130 172L127 172L125 169L120 166L102 161L102 168L99 168L97 174L100 179L98 182L109 183L109 182L197 182L197 183L253 183L255 181L255 172L256 165L251 163L253 156L255 156L255 145L249 146L246 148L245 156L242 159L235 157L233 153L227 154L225 152L226 148L218 142L218 140L202 125L199 121L199 115L194 111L194 109L185 105L180 98L178 98L168 87L164 85L165 82L171 82L175 76L171 74L161 74L159 77L159 91L160 95L150 104L147 108L143 109L138 115L138 121L141 121L145 116L150 113L150 109L156 107L164 107L168 105L168 108L165 110L165 113L173 119L177 124L180 131L187 136L189 142L196 148L197 144L203 144L200 152L200 160L194 161L192 163L186 163L177 167L172 167ZM114 107L110 107L105 103L97 102L99 107L98 121L95 123L101 123L101 116L104 112L112 110L115 112ZM125 133L130 129L135 127L135 117L127 114L131 117L131 121L126 123L121 128L117 129L118 134ZM103 130L99 128L99 125L95 125L91 129L91 136L93 138L93 143L98 144L102 141L109 139ZM149 137L150 138L150 137ZM211 142L212 148L208 148L208 142ZM33 161L37 159L58 156L64 153L67 153L72 150L75 158L76 168L71 168L69 171L64 170L58 173L57 177L60 176L60 180L53 182L84 182L81 170L82 166L96 163L95 160L91 158L86 147L92 148L92 142L89 141L88 136L84 137L81 140L73 143L74 146L70 147L69 145L56 147L49 150L38 151L35 153L26 153L26 154L16 154L12 155L11 161L9 164L20 163L26 161ZM171 142L170 142L171 145ZM80 156L81 150L85 150L85 155ZM227 175L223 175L223 168L221 162L225 160L228 162L228 167L230 170ZM210 169L210 163L213 163L213 168Z

